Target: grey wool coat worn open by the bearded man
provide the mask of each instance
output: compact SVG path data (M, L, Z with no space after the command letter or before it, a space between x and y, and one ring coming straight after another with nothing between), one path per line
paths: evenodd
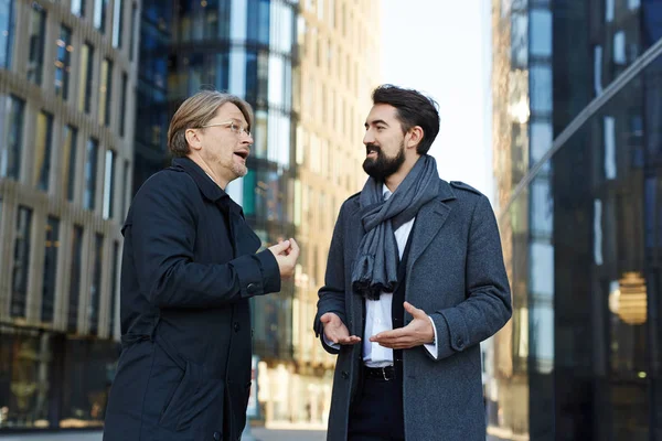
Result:
M333 232L313 324L320 336L320 316L334 312L350 334L370 337L363 335L363 298L351 287L363 234L356 194L342 205ZM405 298L435 322L438 358L423 346L403 351L406 440L484 441L479 343L499 331L512 312L494 213L479 191L439 180L439 196L418 212L412 235ZM410 321L405 312L405 325ZM344 441L359 389L362 345L334 351L321 340L328 352L338 354L328 440Z

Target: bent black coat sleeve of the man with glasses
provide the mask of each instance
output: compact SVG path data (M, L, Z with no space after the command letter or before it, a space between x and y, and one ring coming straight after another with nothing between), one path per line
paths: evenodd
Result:
M159 173L131 206L125 234L132 237L138 283L148 300L160 308L204 308L279 291L278 263L268 249L227 263L193 261L197 214L190 192L197 189L186 180L184 173Z

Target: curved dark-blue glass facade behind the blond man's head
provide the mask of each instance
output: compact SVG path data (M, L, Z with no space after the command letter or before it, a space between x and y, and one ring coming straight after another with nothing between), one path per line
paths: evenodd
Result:
M166 136L181 101L204 88L227 90L253 106L255 143L248 174L226 191L263 246L296 237L297 14L291 0L142 2L134 192L170 164ZM269 373L295 368L292 297L286 281L280 293L252 300L254 349ZM290 415L274 399L263 406L269 416Z

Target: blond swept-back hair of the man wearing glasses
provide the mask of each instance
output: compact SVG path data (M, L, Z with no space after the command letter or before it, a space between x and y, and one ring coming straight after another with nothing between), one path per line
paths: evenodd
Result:
M197 94L186 98L184 103L177 109L170 127L168 128L168 148L174 157L185 157L190 152L189 142L186 141L188 129L202 129L216 115L221 106L226 103L232 103L239 108L246 122L247 129L253 126L253 109L250 105L242 98L224 94L217 90L201 90Z

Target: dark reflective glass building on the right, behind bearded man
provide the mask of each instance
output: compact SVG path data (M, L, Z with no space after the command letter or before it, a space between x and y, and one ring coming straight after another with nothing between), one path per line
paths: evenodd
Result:
M662 8L493 1L492 440L662 440Z

